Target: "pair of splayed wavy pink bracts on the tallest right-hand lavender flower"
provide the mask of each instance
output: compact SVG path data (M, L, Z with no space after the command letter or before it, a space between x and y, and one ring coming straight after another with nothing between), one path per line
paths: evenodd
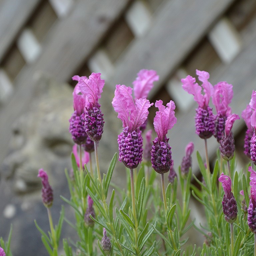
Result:
M181 79L182 88L194 96L194 100L198 103L198 106L206 109L209 105L211 95L213 94L213 86L208 79L209 73L206 71L196 70L198 79L202 82L202 87L196 83L196 79L192 76L187 76L185 79ZM202 88L204 95L201 93Z

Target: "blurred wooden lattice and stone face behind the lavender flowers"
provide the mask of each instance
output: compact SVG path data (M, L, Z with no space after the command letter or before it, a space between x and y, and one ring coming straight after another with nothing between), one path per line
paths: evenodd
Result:
M6 239L14 223L14 256L45 254L33 222L37 218L47 229L38 169L49 171L57 206L59 194L68 194L63 170L70 168L73 75L101 72L106 82L100 100L102 172L118 150L122 129L111 105L115 85L131 86L140 69L154 69L160 77L151 102L175 101L178 121L168 137L176 170L190 141L204 156L194 128L197 104L180 79L195 77L199 69L210 73L213 85L233 84L231 107L239 115L256 89L254 0L1 0L0 24L0 236ZM148 128L155 111L150 109ZM236 121L237 168L249 161L245 130L243 120ZM210 159L217 148L210 138ZM118 163L119 169L117 183L125 179Z

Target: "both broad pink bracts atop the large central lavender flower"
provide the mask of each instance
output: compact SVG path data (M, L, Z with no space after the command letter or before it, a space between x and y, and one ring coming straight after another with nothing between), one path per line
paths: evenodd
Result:
M135 131L148 117L150 104L147 99L138 99L135 102L132 98L132 88L125 85L116 85L115 97L112 105L122 120L123 127L129 127L129 132Z

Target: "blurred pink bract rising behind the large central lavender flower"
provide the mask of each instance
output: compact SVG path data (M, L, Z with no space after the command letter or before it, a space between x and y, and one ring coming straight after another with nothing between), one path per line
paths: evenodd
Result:
M159 76L155 70L140 70L136 80L133 82L133 93L135 100L147 98L150 90L154 86L153 82L158 80Z

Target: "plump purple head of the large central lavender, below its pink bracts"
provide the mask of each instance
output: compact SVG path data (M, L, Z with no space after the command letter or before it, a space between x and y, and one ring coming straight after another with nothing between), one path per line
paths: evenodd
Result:
M125 127L118 135L119 161L127 168L134 169L142 161L143 140L140 132L129 132L129 127Z

